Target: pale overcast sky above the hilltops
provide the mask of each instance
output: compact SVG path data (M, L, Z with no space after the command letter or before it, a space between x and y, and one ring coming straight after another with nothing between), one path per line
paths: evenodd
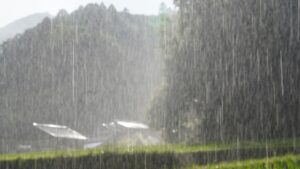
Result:
M80 5L104 2L105 5L114 4L118 10L125 7L135 14L157 14L159 4L165 2L173 7L173 0L0 0L0 27L19 18L41 12L56 15L60 9L72 12Z

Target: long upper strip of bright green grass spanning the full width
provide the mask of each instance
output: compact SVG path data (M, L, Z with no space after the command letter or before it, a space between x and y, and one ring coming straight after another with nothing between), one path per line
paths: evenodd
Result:
M300 147L300 138L298 139L277 139L272 141L242 141L240 143L215 143L206 145L157 145L157 146L103 146L90 150L61 150L47 152L33 152L20 154L0 154L0 161L45 159L59 157L82 157L89 155L101 155L103 153L191 153L191 152L209 152L228 149L275 149L287 147Z

